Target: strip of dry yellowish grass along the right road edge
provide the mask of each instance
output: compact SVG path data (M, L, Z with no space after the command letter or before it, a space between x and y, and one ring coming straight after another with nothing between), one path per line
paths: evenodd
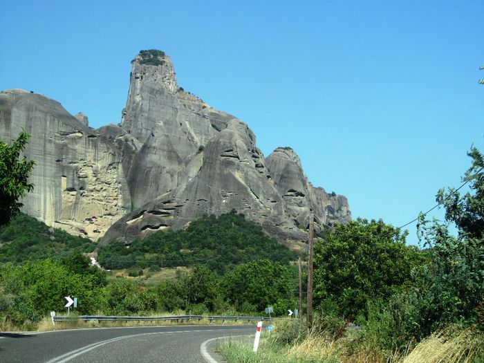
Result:
M324 362L324 363L483 363L482 333L454 328L434 333L418 344L413 351L388 351L346 335L334 339L324 335L310 335L292 346L274 344L263 333L257 355L250 344L227 342L221 346L230 363L251 362Z

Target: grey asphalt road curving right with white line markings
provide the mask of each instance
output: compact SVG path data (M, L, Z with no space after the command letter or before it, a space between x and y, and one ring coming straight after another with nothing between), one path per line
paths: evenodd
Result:
M0 362L201 363L203 342L254 331L251 326L158 326L0 333Z

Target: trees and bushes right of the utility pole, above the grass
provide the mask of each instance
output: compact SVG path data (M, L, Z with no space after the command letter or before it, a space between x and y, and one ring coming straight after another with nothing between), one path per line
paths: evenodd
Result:
M437 194L447 223L419 218L423 250L382 221L338 225L317 243L319 310L355 317L378 346L406 346L449 324L484 330L484 160L475 148L469 156L469 192Z

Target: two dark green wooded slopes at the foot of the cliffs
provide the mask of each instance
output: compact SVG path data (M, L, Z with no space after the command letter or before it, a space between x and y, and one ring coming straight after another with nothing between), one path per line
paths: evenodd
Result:
M48 227L26 214L18 214L0 227L0 262L22 263L74 252L93 252L96 243ZM206 265L224 274L241 263L269 259L287 265L295 252L277 243L262 228L241 214L204 216L185 230L156 232L127 246L113 241L98 250L98 260L109 270Z

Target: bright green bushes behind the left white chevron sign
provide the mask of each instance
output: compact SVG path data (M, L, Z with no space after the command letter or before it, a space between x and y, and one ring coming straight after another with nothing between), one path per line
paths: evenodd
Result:
M37 322L50 310L64 310L64 296L79 297L79 312L102 308L105 273L81 254L0 267L0 317L13 324ZM1 320L0 320L1 321Z

